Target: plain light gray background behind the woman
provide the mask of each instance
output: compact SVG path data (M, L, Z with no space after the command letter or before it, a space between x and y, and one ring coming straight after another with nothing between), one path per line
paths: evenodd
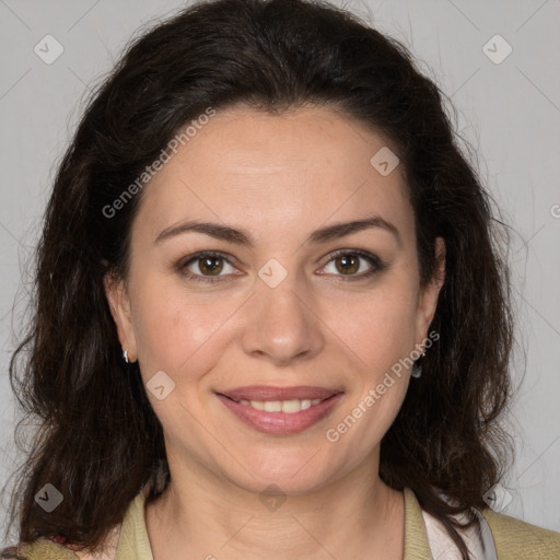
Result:
M25 264L55 165L95 79L110 69L140 25L183 4L0 0L0 485L21 459L13 443L8 363L22 326L30 279ZM457 129L478 153L482 179L514 229L510 264L518 342L512 375L525 378L509 422L516 459L498 489L499 508L560 530L560 1L355 0L341 5L405 43L451 96ZM34 52L47 34L63 46L51 65ZM500 63L483 50L497 34L513 48ZM504 48L495 42L487 47L494 57ZM0 524L5 504L4 497Z

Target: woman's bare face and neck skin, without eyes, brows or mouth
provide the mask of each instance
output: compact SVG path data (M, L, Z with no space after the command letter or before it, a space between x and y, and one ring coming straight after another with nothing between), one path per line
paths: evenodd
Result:
M145 187L128 283L107 278L106 293L144 382L164 371L175 383L163 400L148 392L172 474L145 511L155 560L402 558L402 493L377 472L410 371L336 443L325 435L421 348L443 284L439 238L440 275L420 288L401 166L382 176L370 163L387 144L331 108L271 116L237 106L219 110ZM393 223L400 241L382 228L305 241L371 214ZM255 245L192 232L154 243L187 220L246 230ZM332 257L338 249L370 252L386 268L352 281ZM225 281L197 283L175 268L200 250L232 257L217 261ZM288 272L276 288L258 276L271 258ZM372 268L359 262L354 277ZM217 278L198 265L188 270ZM270 435L215 396L255 384L335 387L343 397L304 432ZM264 499L270 485L282 493L278 508Z

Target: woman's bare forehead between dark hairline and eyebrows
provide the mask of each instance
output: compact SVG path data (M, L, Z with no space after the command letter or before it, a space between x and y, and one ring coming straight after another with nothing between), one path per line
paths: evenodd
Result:
M327 107L218 110L144 187L145 219L135 228L153 237L180 220L211 218L278 235L376 213L406 230L413 215L404 170L383 175L371 161L387 143Z

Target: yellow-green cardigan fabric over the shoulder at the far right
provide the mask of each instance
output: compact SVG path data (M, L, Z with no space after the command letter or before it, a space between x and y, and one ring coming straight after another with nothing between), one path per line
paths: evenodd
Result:
M489 509L481 513L492 532L498 558L518 558L520 552L527 560L560 558L560 533Z

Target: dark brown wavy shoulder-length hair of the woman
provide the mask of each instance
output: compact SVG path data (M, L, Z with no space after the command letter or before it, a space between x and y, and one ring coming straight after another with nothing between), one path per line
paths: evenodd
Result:
M436 271L434 240L445 240L430 327L440 339L383 439L380 474L395 489L411 488L468 560L452 516L475 523L472 508L486 508L485 492L509 463L500 418L513 322L508 226L454 132L447 101L399 42L320 1L197 2L131 39L92 92L57 167L34 256L33 317L10 362L23 417L39 425L13 491L21 541L59 535L94 550L140 489L150 488L150 501L170 479L162 427L138 363L122 361L103 287L107 272L127 277L143 191L112 218L103 209L209 106L278 115L317 104L395 145L422 285ZM51 513L34 500L45 483L65 497Z

